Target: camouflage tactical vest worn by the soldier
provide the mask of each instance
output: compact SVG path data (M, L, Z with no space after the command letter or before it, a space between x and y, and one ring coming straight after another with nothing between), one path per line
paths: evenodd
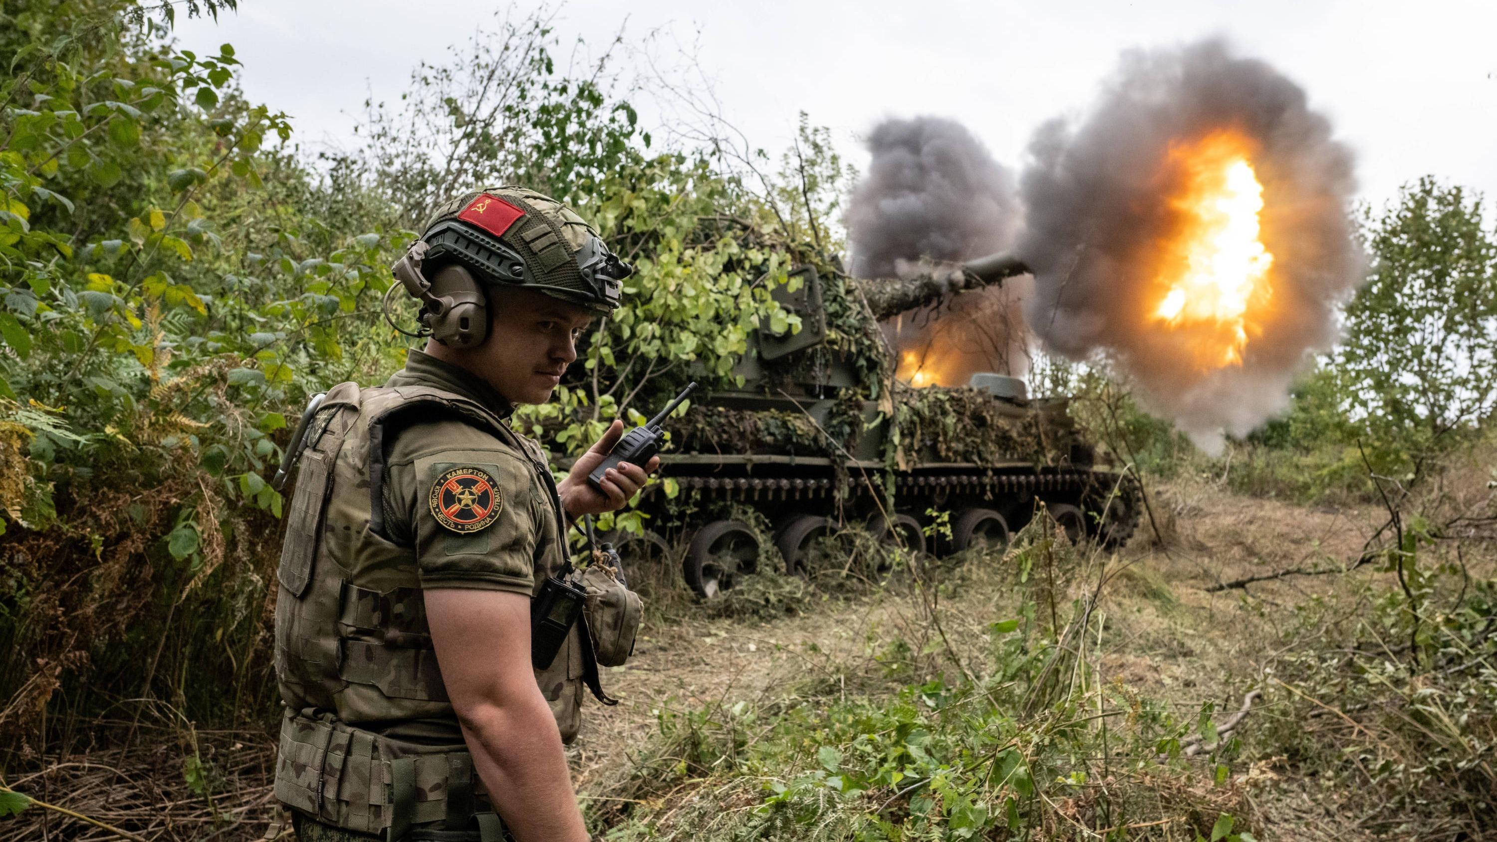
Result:
M275 797L319 823L391 841L415 826L488 842L503 829L448 703L415 550L383 529L388 443L442 415L512 445L555 493L539 448L478 402L419 385L328 391L307 427L278 569L275 676L286 709ZM537 581L552 572L536 563ZM543 688L575 691L551 700L564 736L575 734L581 703L578 637L573 629L536 676Z

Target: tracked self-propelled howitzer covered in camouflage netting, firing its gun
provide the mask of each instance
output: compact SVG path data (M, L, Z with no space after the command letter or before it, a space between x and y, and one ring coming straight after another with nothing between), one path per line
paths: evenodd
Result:
M997 373L960 388L894 376L880 321L1027 271L991 255L906 279L859 280L834 265L790 273L774 297L799 330L760 327L734 370L743 385L665 422L662 473L692 505L647 493L650 529L615 533L620 551L680 556L687 584L710 598L759 568L765 541L795 575L807 548L844 526L948 554L1001 545L1043 509L1072 539L1126 541L1136 484L1096 464L1064 399L1031 400L1024 381ZM942 515L949 538L928 538ZM684 556L674 551L683 544Z

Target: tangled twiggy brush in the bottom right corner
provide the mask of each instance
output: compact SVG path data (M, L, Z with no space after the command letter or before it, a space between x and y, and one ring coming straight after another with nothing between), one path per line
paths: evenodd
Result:
M1418 604L1377 586L1355 617L1299 608L1254 752L1334 782L1376 838L1481 839L1497 820L1497 581L1404 563Z

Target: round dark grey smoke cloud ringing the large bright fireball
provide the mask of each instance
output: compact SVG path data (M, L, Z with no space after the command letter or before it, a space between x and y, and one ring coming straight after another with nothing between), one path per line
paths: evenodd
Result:
M1178 334L1139 313L1157 289L1154 249L1178 223L1159 175L1166 153L1220 129L1254 141L1272 318L1240 366L1201 370L1184 363ZM1147 406L1198 442L1244 434L1278 412L1295 373L1334 343L1337 304L1362 277L1347 217L1352 153L1269 64L1222 40L1127 52L1094 108L1042 126L1028 154L1016 250L1034 270L1030 330L1072 360L1120 367Z

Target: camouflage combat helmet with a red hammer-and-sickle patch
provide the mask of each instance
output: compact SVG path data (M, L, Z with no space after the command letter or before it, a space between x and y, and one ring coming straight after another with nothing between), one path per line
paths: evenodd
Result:
M602 315L618 307L620 283L633 271L572 208L516 186L449 199L421 241L428 274L461 264L482 283L534 289Z

